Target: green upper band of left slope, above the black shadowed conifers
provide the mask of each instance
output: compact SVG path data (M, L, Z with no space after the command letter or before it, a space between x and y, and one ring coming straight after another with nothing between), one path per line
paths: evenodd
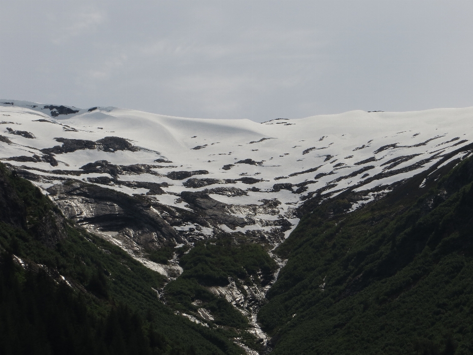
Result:
M241 353L228 340L225 330L192 323L176 316L160 302L152 287L162 287L161 275L145 268L118 247L55 218L59 211L29 181L10 174L2 166L0 175L2 191L9 191L8 198L16 201L17 210L22 210L17 214L25 213L22 225L12 225L8 220L0 223L1 249L32 265L42 264L82 289L76 292L84 297L90 317L105 320L116 305L123 303L144 321L145 327L152 327L160 337L167 339L165 353L180 354L190 351L191 347L197 354ZM63 224L62 230L58 224ZM53 232L44 231L45 226ZM22 270L17 270L16 274L19 287L23 287L22 283L28 278Z

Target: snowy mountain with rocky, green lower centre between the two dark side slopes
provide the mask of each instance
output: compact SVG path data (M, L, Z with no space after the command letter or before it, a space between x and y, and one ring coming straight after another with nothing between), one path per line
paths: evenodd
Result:
M332 215L356 213L424 174L422 190L472 152L472 107L263 123L15 101L0 111L9 169L161 273L177 312L247 329L260 352L257 314L301 218L330 201L343 201ZM223 317L232 309L243 318Z

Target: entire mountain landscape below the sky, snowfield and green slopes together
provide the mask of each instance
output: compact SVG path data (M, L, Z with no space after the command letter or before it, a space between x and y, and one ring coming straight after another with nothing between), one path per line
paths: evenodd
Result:
M473 354L473 107L0 131L2 353Z

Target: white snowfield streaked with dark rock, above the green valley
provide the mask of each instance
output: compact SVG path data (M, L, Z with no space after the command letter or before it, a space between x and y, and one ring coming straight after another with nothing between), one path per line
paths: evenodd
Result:
M352 201L355 209L438 164L473 135L473 108L351 111L256 123L116 107L0 105L1 159L28 172L70 217L94 214L83 198L72 205L61 201L64 188L54 186L71 178L145 196L165 206L161 212L152 208L161 216L213 211L203 213L201 223L168 221L178 245L220 231L280 243L297 225L304 201L349 189L361 192ZM213 206L203 206L204 200ZM123 234L83 222L112 237Z

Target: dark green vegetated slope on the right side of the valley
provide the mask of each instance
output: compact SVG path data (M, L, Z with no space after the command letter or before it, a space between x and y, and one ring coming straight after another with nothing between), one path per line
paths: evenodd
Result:
M301 220L258 317L271 354L473 353L473 161L419 196L423 178Z

